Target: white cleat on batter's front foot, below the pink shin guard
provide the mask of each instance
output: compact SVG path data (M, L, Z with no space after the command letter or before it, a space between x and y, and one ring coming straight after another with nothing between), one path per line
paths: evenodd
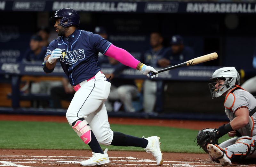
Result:
M105 149L104 154L92 152L92 158L90 158L86 161L80 162L80 165L82 165L82 166L101 166L101 167L109 166L110 161L108 158L107 151L108 151L108 149Z

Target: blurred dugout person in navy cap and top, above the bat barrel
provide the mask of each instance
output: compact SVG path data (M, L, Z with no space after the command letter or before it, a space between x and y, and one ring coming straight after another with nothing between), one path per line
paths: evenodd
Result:
M171 47L166 49L165 57L165 61L169 61L169 64L177 65L195 58L194 50L184 45L184 40L180 35L173 35L170 44Z

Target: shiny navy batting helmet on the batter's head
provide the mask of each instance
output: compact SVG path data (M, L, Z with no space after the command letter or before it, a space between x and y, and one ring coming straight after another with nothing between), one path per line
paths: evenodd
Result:
M56 11L55 16L51 17L49 20L51 23L55 24L56 19L60 18L60 25L63 27L68 27L70 25L76 25L79 27L80 16L74 9L61 8Z

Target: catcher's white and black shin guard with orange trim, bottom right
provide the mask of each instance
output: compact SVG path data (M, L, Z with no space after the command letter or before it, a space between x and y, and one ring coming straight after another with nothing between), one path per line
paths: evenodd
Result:
M253 147L253 148L252 148ZM235 144L225 148L226 155L231 161L244 159L255 151L255 141L249 136L239 137Z

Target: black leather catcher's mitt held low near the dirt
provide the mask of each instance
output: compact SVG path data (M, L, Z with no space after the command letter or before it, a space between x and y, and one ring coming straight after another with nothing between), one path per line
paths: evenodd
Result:
M199 130L197 136L196 136L196 143L197 146L199 145L200 148L204 149L206 153L207 151L207 145L208 144L218 144L219 138L217 137L217 129L202 129Z

